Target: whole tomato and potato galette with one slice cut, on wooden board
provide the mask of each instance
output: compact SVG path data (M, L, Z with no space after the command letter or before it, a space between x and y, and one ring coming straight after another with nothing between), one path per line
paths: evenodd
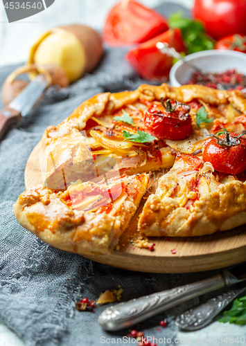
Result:
M21 194L17 220L62 250L109 253L148 172L172 167L148 197L139 232L188 237L245 224L245 116L241 91L143 84L98 94L44 131L44 184Z

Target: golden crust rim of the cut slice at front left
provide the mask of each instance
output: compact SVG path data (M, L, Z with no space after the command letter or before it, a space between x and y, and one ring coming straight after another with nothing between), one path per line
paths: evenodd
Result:
M109 253L118 243L148 188L148 174L120 179L132 184L134 198L122 194L115 199L111 212L80 210L66 203L67 192L54 192L38 185L23 192L15 203L19 224L44 242L71 253ZM136 193L137 192L137 193Z

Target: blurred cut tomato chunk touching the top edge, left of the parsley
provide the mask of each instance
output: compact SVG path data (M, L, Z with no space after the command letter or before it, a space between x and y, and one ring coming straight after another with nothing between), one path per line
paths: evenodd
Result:
M121 1L109 12L103 36L111 45L145 42L168 30L167 21L137 1Z

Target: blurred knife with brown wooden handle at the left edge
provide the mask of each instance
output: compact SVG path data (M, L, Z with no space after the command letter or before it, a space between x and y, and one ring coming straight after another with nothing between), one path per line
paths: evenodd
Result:
M37 75L8 106L0 111L0 140L12 125L17 125L21 118L30 112L47 86L44 74Z

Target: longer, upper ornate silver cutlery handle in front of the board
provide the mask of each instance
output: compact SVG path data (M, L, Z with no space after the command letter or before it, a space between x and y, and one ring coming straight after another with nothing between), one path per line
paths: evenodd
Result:
M105 309L98 317L98 322L109 331L128 328L182 302L221 289L226 284L225 278L218 274L193 284L132 299Z

